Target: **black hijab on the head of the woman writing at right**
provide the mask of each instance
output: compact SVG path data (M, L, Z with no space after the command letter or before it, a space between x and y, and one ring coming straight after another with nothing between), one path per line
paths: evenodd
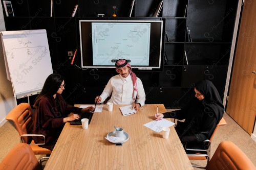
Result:
M224 114L224 106L221 102L218 90L209 80L198 82L195 88L204 95L204 100L202 101L204 111L209 115L215 115L218 124Z

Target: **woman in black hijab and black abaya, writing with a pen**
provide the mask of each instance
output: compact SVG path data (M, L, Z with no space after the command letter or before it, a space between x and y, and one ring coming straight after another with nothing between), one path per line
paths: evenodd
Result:
M195 86L195 97L181 110L158 114L156 120L162 118L185 119L175 127L182 142L204 141L209 139L216 125L224 114L220 95L211 81L202 80Z

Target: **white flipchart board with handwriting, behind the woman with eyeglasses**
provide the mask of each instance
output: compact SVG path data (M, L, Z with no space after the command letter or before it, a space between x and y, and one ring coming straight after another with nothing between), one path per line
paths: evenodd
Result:
M17 99L37 94L53 73L46 30L3 31L7 77Z

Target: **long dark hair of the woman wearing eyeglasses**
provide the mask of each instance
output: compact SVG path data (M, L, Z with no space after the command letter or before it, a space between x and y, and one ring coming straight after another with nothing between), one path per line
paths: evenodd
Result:
M37 95L33 107L37 108L40 100L45 96L53 96L58 91L63 80L64 78L59 74L49 75L44 86L42 87L40 94Z

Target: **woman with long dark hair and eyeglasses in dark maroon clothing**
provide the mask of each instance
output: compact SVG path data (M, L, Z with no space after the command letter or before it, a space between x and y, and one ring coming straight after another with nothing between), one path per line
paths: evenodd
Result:
M45 135L45 144L42 147L53 150L55 143L66 122L79 119L78 114L70 112L90 112L95 108L78 108L69 105L61 93L65 89L65 81L58 74L51 74L45 81L40 94L35 99L34 134ZM43 138L33 137L36 143L44 143Z

